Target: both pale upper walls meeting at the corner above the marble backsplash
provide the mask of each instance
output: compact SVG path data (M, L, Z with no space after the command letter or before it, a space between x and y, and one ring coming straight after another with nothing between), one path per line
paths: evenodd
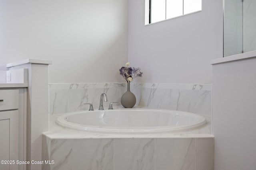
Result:
M49 83L123 82L129 53L137 82L212 83L222 0L202 1L202 12L148 26L144 0L0 1L0 64L47 59Z

